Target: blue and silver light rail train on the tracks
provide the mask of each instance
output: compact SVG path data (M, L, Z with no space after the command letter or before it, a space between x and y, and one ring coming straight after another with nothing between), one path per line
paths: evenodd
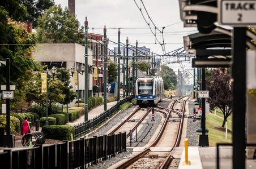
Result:
M138 77L135 86L136 105L156 105L164 98L164 81L159 76Z

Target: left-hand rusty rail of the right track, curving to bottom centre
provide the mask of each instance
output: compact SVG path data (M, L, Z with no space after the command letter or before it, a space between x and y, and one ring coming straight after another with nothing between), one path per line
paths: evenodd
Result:
M172 103L170 109L173 108L173 106L174 106L174 104L176 103L176 101L177 101L177 100L174 100L174 101L173 101L173 103ZM169 114L170 114L170 111L168 112L168 115L167 115L167 117L165 118L165 121L164 121L164 123L163 123L163 125L162 125L162 127L161 127L161 130L160 130L159 134L156 136L156 139L153 141L153 143L152 143L150 146L148 146L148 148L144 149L143 152L141 152L141 153L135 155L134 157L130 158L129 160L123 162L122 164L120 164L120 165L117 166L116 168L127 168L127 167L129 167L130 164L134 163L134 162L137 161L140 157L142 157L143 155L147 154L147 153L150 151L151 146L155 146L155 145L159 142L161 136L163 135L164 129L165 129L165 127L167 126L167 123L168 123L168 121L169 121Z

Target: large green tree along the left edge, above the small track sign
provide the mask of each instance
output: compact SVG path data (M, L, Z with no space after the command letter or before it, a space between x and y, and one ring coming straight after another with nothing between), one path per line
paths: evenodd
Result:
M10 59L10 83L16 86L14 99L11 100L11 108L22 103L20 100L24 96L22 91L24 82L32 78L30 75L32 70L37 70L30 54L35 49L36 37L25 30L23 23L17 22L20 18L25 17L25 10L19 1L0 1L0 44L5 44L0 46L0 60ZM5 85L5 65L0 66L0 74L0 84Z

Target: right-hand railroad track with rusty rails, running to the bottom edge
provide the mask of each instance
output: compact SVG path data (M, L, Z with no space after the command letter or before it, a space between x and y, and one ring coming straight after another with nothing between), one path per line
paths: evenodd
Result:
M176 104L176 102L177 102L177 100L176 101L173 101L173 103L172 103L172 105L170 106L170 109L165 109L165 108L161 108L161 107L158 107L158 108L156 108L155 109L155 111L158 111L158 112L160 112L160 113L163 113L163 114L165 114L164 116L165 116L165 120L164 120L164 122L163 122L163 125L161 126L161 128L160 128L160 132L157 134L157 136L156 136L156 139L155 140L153 140L152 141L152 143L150 144L150 145L148 145L148 147L146 148L146 149L144 149L142 152L140 152L140 153L138 153L138 154L136 154L134 157L132 157L132 158L130 158L129 160L127 160L127 161L125 161L125 162L123 162L122 164L120 164L119 166L117 166L116 168L127 168L127 167L129 167L129 168L133 168L132 167L132 165L133 165L133 163L135 163L136 161L138 161L139 159L141 159L141 163L148 163L148 162L146 162L146 160L145 160L145 157L149 157L149 158L153 158L153 159L151 159L151 161L153 161L153 160L155 160L156 158L160 158L159 160L157 160L157 161L155 161L155 162L153 162L153 163L157 163L158 164L158 166L157 167L159 167L160 166L160 164L164 161L167 161L167 162L165 162L164 164L162 164L162 166L168 166L168 164L170 163L170 161L171 160L169 160L169 159L172 159L172 152L173 152L173 150L174 150L174 148L176 147L176 146L178 146L179 144L180 144L180 140L181 140L181 133L182 133L182 125L183 125L183 117L184 117L184 112L185 112L185 104L186 104L186 101L184 101L184 104L183 104L183 111L182 111L182 115L181 115L181 117L180 117L180 124L179 124L179 127L178 127L178 134L177 134L177 136L176 136L176 141L175 141L175 143L174 143L174 145L173 145L173 148L171 148L170 149L170 153L169 152L165 152L165 153L160 153L160 156L159 156L159 152L157 152L158 154L156 155L154 155L153 153L150 153L151 152L151 150L150 149L153 149L153 148L155 148L156 147L156 149L160 149L159 147L157 147L157 146L161 146L161 144L159 143L159 141L161 140L161 137L163 136L163 135L169 135L169 134L164 134L164 132L165 132L165 128L167 127L167 125L168 125L168 122L169 122L169 117L171 117L171 112L173 112L173 108L174 108L174 104ZM167 111L168 110L168 113L165 113L164 111ZM169 126L167 127L167 128L170 128ZM164 139L162 139L160 142L164 142L163 141ZM158 145L157 145L158 144ZM147 154L147 155L146 155ZM169 154L171 154L171 155L169 155ZM167 157L166 159L163 159L163 158L165 158L165 157ZM144 161L144 162L143 162ZM138 164L135 164L136 165L136 167L138 167ZM154 167L155 168L155 166L151 166L151 167Z

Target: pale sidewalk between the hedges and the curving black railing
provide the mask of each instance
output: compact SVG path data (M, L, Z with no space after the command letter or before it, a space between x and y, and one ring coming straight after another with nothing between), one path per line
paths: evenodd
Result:
M106 109L108 110L108 109L112 108L112 106L114 106L116 104L117 104L117 101L112 101L110 103L107 103L106 104ZM104 112L104 105L100 105L100 106L97 106L94 109L89 110L89 112L88 112L88 120L97 117L97 115L99 115L99 114L101 114L103 112ZM84 115L81 116L80 118L76 119L75 121L72 121L72 122L66 123L66 124L69 125L69 126L75 126L76 124L80 124L80 123L83 123L83 122L84 122Z

